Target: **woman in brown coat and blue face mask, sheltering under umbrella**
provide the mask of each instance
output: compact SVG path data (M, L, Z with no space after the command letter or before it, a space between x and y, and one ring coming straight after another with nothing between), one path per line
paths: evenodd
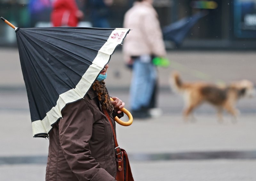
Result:
M103 79L108 65L104 67L83 99L68 104L62 110L63 119L53 125L49 133L49 154L46 180L65 181L114 181L116 177L116 155L113 133L106 109L113 117L123 116L119 109L124 103L112 97Z

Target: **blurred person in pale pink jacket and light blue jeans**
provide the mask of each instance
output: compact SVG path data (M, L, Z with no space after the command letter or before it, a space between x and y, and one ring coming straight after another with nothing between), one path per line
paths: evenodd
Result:
M132 66L132 115L134 118L147 118L157 82L157 70L152 59L166 56L153 0L135 0L132 8L125 13L124 27L132 29L123 46L124 59Z

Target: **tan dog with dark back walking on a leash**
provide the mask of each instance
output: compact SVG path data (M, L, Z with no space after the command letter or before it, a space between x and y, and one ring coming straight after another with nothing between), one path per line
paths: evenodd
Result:
M245 79L227 86L217 86L206 82L184 83L179 73L174 72L170 76L170 83L175 90L184 94L186 103L183 111L184 120L188 120L189 115L203 102L208 102L217 108L219 121L223 121L223 110L229 112L236 120L239 114L235 108L237 100L256 95L253 83Z

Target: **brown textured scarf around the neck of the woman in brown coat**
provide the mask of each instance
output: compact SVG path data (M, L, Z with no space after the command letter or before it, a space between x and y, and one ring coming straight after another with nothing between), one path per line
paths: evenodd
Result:
M108 95L108 91L106 90L105 82L96 80L93 85L92 89L98 94L98 99L103 109L106 109L109 113L112 114L114 107L110 102L110 98Z

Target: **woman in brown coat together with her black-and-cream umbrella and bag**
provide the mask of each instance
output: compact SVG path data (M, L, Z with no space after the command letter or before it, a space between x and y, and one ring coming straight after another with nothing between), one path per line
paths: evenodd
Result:
M124 180L130 170L125 180L133 181L113 119L118 122L119 109L127 110L120 99L111 101L103 81L111 55L130 30L17 28L1 19L17 35L33 135L50 139L46 180ZM128 122L124 126L131 116Z

